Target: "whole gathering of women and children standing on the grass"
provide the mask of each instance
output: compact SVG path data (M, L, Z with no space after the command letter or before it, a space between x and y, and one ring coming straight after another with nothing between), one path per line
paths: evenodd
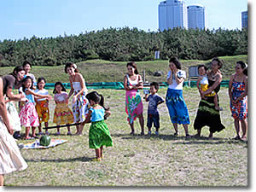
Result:
M212 59L211 70L204 73L204 77L199 79L198 84L204 84L199 87L201 101L194 122L194 129L197 131L195 137L201 137L201 129L209 126L209 138L213 133L222 131L225 127L221 123L221 110L218 106L218 91L222 81L222 61L218 58ZM49 96L48 91L44 90L46 80L38 79L37 84L35 77L29 73L31 64L25 62L21 67L15 67L13 73L0 78L0 185L3 185L3 176L9 172L21 171L26 169L26 161L20 155L20 150L12 136L14 134L13 122L10 122L6 103L20 102L20 125L26 127L26 139L29 137L30 127L32 127L32 137L36 137L35 129L39 127L39 134L43 134L41 124L44 122L46 127L45 134L49 134ZM141 135L144 135L144 118L143 118L143 101L139 90L143 89L143 79L137 71L135 62L128 62L128 73L124 77L125 86L125 112L127 121L131 127L131 135L135 134L134 121L138 118L141 126ZM167 74L167 83L169 84L166 99L164 100L157 94L159 84L153 82L150 84L150 94L145 92L145 101L148 102L148 135L151 135L151 127L156 128L155 135L159 134L160 114L158 105L166 102L166 107L174 127L174 136L178 135L177 125L183 125L185 137L189 135L189 110L183 98L183 81L186 79L186 73L182 70L182 64L176 57L169 61L169 72ZM199 67L200 70L201 67ZM104 106L104 97L96 91L88 93L84 78L79 73L77 66L72 62L67 62L65 73L69 74L71 90L67 94L61 82L55 83L54 100L55 115L54 122L56 125L67 124L67 135L70 135L68 125L76 123L76 134L81 135L86 123L91 123L89 131L89 146L96 150L94 160L103 159L103 146L113 146L108 126L104 119L111 114L109 108ZM207 84L207 85L206 85ZM35 85L38 90L34 91ZM20 93L15 95L12 90L20 89ZM236 137L235 139L246 140L247 137L247 64L242 61L236 63L236 73L230 78L229 87L230 110L232 117L235 119ZM6 100L6 97L8 98ZM72 97L72 110L68 107L68 100ZM35 98L38 107L35 107ZM8 102L7 102L8 101ZM18 135L21 129L17 129ZM242 135L241 135L242 131ZM59 129L57 129L59 133Z

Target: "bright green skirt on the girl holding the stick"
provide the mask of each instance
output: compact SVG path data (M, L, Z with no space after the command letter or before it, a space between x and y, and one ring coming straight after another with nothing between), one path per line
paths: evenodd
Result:
M101 148L113 146L112 137L110 136L108 125L104 120L91 122L89 131L89 147Z

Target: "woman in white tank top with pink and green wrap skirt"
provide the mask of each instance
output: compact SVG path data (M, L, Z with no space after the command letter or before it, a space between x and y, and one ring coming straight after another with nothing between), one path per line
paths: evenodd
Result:
M128 115L127 121L131 126L131 135L134 134L133 122L139 119L141 125L141 135L144 135L144 118L143 118L143 102L139 90L143 89L143 79L137 72L137 65L135 62L128 62L128 74L125 75L124 87L125 94L125 112Z

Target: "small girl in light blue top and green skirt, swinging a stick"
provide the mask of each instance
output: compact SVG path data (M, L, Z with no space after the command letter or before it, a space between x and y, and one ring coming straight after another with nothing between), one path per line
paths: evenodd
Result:
M89 147L95 148L96 158L94 161L101 161L103 158L103 145L106 147L113 146L112 137L110 136L108 125L104 119L110 115L109 108L104 107L104 97L96 91L86 95L90 103L90 110L84 123L90 123Z

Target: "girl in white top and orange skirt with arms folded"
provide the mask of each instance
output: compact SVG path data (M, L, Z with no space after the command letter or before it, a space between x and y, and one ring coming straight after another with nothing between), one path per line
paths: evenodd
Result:
M38 84L37 84L37 90L35 90L35 93L43 96L48 96L48 90L44 89L46 80L44 78L38 78ZM48 121L49 121L49 100L46 98L36 98L36 110L38 113L38 118L39 118L39 135L44 135L42 132L41 124L44 122L44 126L47 128L48 127ZM45 129L45 134L49 135L48 129Z

